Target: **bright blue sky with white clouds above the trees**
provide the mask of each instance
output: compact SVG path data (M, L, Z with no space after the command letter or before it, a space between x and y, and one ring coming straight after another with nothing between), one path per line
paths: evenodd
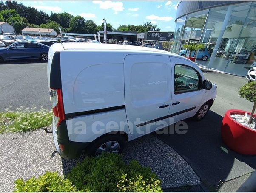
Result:
M143 25L151 22L161 31L174 31L179 1L18 1L25 6L52 12L68 12L93 20L97 25L105 18L113 28L120 25Z

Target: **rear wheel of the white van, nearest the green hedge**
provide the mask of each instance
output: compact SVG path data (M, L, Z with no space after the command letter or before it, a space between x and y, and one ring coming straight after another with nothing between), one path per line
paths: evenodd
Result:
M125 136L121 134L107 134L92 142L85 149L87 156L98 156L102 152L122 153L125 148Z

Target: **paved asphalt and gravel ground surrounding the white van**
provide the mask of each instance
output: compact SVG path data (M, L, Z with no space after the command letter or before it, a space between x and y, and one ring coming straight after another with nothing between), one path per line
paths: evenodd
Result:
M128 143L123 152L127 161L136 158L149 165L162 179L163 188L192 185L196 191L236 191L254 169L255 156L242 156L229 150L220 137L220 124L228 109L251 110L252 104L239 97L244 77L205 71L205 78L218 85L216 100L201 122L185 120L188 132L151 134ZM38 60L0 64L0 111L20 106L50 109L47 63ZM168 129L168 128L165 128ZM45 171L66 173L79 160L61 159L51 134L0 135L0 190L11 191L14 179L28 179ZM186 190L183 190L186 191Z

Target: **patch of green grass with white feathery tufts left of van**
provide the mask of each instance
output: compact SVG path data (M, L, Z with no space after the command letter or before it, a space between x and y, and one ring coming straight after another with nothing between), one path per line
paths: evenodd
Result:
M52 112L43 109L43 106L39 110L33 105L31 108L24 109L21 106L16 111L6 109L5 112L0 112L0 133L31 131L51 123Z

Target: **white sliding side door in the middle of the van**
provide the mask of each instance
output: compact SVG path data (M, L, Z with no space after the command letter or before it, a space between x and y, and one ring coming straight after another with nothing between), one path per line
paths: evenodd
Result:
M164 126L171 104L168 56L128 55L124 61L125 109L133 138Z

